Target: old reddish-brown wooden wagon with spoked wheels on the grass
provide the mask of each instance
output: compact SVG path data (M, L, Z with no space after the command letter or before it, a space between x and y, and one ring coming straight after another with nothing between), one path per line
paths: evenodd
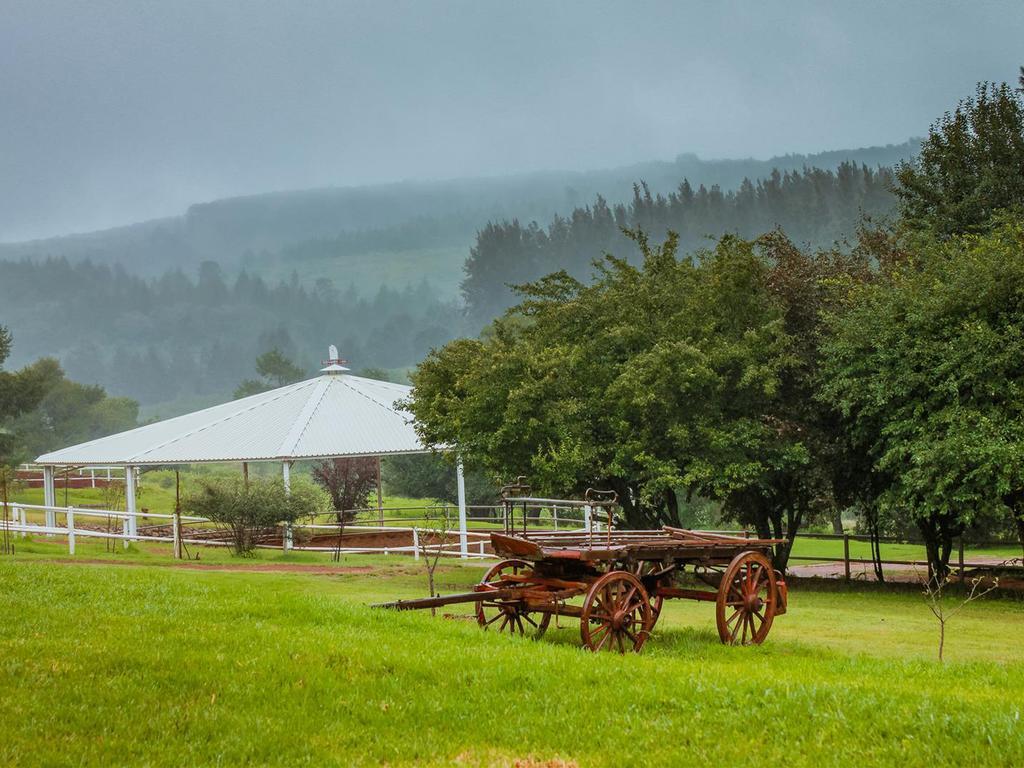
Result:
M583 507L580 530L530 530L529 505ZM399 600L399 610L474 603L484 630L541 637L551 623L578 618L585 647L621 653L639 651L653 631L665 600L714 602L718 634L727 644L760 644L772 622L785 612L786 587L771 564L781 540L748 539L666 526L660 530L615 530L614 495L593 492L580 501L505 498L505 529L490 543L504 558L472 592ZM523 510L517 529L515 512ZM590 514L607 510L603 527ZM696 585L680 587L692 574ZM583 598L580 600L580 598Z

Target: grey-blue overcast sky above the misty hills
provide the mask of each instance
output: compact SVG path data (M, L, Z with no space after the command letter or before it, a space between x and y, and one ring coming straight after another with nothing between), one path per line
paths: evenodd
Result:
M900 142L1024 2L0 0L0 241L230 195Z

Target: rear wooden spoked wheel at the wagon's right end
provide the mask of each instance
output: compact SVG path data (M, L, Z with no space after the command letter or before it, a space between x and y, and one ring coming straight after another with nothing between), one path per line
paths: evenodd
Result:
M775 571L760 552L740 552L718 588L718 635L726 645L760 645L778 605Z

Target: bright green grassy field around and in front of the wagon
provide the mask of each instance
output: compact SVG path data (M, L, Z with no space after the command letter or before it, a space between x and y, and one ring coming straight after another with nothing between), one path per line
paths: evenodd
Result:
M368 607L425 592L397 556L328 575L59 554L0 559L2 765L1024 762L1011 599L965 609L945 665L920 597L866 586L796 587L759 648L721 646L711 606L676 601L643 654L595 656L571 622L535 642ZM479 574L447 564L440 589Z

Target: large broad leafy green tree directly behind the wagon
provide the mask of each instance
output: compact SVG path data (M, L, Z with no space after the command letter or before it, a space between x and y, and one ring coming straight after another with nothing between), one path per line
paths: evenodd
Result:
M613 488L632 527L678 524L682 492L794 536L815 507L801 477L817 415L780 401L813 373L786 330L807 333L796 313L813 312L787 309L782 241L723 238L690 260L672 234L630 237L641 266L608 256L589 286L548 275L483 337L428 355L409 403L421 437L545 493Z

